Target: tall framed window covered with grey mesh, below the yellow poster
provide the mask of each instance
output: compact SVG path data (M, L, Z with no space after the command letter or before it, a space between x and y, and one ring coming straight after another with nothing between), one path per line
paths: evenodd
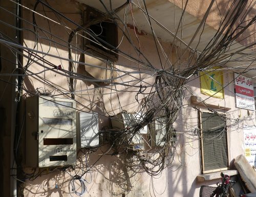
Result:
M200 112L203 173L224 170L228 167L225 125L225 116Z

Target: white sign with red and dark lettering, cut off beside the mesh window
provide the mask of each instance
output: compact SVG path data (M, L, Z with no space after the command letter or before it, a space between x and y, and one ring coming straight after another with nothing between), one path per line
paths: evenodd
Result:
M245 158L251 166L256 166L256 127L246 127L243 131Z

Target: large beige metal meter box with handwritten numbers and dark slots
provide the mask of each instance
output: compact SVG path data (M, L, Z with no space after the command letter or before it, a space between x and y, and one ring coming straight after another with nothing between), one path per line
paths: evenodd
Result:
M76 162L76 102L47 96L26 101L26 165L49 167Z

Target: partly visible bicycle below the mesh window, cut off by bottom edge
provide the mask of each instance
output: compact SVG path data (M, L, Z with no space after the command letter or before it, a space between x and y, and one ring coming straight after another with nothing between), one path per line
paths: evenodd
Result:
M236 181L230 180L230 176L221 173L221 182L217 183L217 187L202 185L200 188L200 197L227 197L230 183Z

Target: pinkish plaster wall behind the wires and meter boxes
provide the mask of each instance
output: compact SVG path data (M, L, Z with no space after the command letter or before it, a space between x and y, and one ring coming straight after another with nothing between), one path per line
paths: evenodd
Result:
M30 9L33 8L33 1L26 1L24 3L26 3L26 6ZM73 21L79 24L82 23L82 11L84 9L82 5L73 1L51 1L50 4L56 10L65 14L65 16L69 17ZM36 11L47 15L51 19L58 22L65 22L67 27L74 28L71 22L66 20L58 20L59 18L57 18L56 15L47 8L44 10L41 6L38 6ZM26 20L32 22L31 11L24 9L23 15ZM51 31L53 34L58 35L58 37L61 39L65 41L68 40L68 32L70 32L70 30L67 30L67 28L52 21L49 21L48 24L48 21L41 16L36 16L36 23L39 27ZM24 22L23 27L24 29L33 31L32 25L28 22ZM161 68L153 37L151 35L137 35L139 38L138 43L134 29L132 27L128 29L132 40L138 47L140 43L141 51L148 58L148 60L150 60L151 64L155 68ZM42 32L39 32L39 35L45 36ZM35 44L35 37L33 33L30 31L24 31L23 37L24 46L33 48ZM121 41L121 39L122 34L119 32L119 41ZM60 41L58 38L54 38L54 40L67 46L65 41ZM172 54L175 57L175 54L170 52L172 44L163 42L161 40L160 42L162 43L166 54ZM39 44L36 46L36 50L68 58L67 47L60 45L56 45L55 47L53 43L51 43L50 47L49 42L41 38L39 38L38 43ZM82 41L80 36L77 36L76 43L77 47L82 48ZM127 42L127 40L124 39L119 48L125 51L127 54L138 58L138 55L136 55L133 47L131 44L129 44L129 42ZM24 54L27 55L26 52L24 52ZM40 54L38 53L38 55ZM76 60L79 59L79 56L79 53L73 53L73 57L75 57ZM60 61L58 58L47 56L45 59L49 60L54 65L60 64L63 69L68 70L68 62L66 60ZM161 59L164 61L162 55ZM26 63L27 60L24 58L23 64L26 65ZM119 60L116 62L116 68L122 71L139 70L137 63L134 63L131 60L127 60L122 56L119 56ZM30 65L29 70L37 73L44 70L44 68L37 65L36 63L33 63ZM117 76L123 75L124 72L122 71L118 72ZM141 77L144 78L148 76L149 75L144 74ZM41 79L38 77L41 77ZM135 74L132 76L127 75L116 81L122 83L122 81L134 80L138 77L140 76ZM50 84L42 82L42 79L49 81ZM31 91L33 92L36 90L36 88L39 88L41 92L49 90L52 91L52 94L58 95L57 97L62 97L64 96L62 94L63 92L69 91L67 80L67 77L61 76L60 73L56 73L51 70L45 70L44 72L39 73L37 76L25 77L24 88L28 90L28 93ZM153 84L154 80L154 78L145 79L145 81L149 84ZM231 72L225 72L224 83L227 86L224 90L225 99L220 100L210 98L206 101L206 103L214 104L217 106L219 104L220 106L231 108L228 111L221 112L226 112L227 117L231 117L233 119L242 119L246 117L247 121L243 121L243 124L252 124L252 119L253 121L255 119L254 115L248 116L247 110L235 108L232 80L233 74ZM139 83L137 81L131 82L130 84L138 85ZM51 85L61 89L62 91L56 90L56 88L53 88ZM200 80L197 76L189 80L188 87L202 99L207 99L207 96L200 93ZM113 115L114 113L120 112L119 102L122 106L122 109L127 110L128 112L134 112L139 107L139 104L135 100L136 92L127 91L138 91L137 88L129 87L126 88L125 91L120 91L114 94L108 94L111 93L111 90L106 88L89 90L91 88L94 88L94 86L88 85L82 80L77 80L76 90L81 90L82 92L81 94L77 94L75 98L77 102L82 104L79 105L79 103L77 103L77 108L83 111L95 110L101 113L102 116L99 120L99 126L101 128L104 126L110 126L109 118L107 117L108 115ZM124 90L124 87L121 85L117 85L116 87L112 88L116 88L117 90ZM26 95L28 94L25 91L24 96L26 97ZM157 177L148 176L145 172L140 170L139 164L132 162L132 158L130 158L130 156L127 154L113 156L103 155L104 152L112 152L109 151L108 146L102 146L97 151L90 152L90 154L82 154L81 152L78 153L80 159L77 160L77 167L75 170L69 169L62 171L60 169L55 170L51 168L44 168L40 169L39 171L39 169L35 169L36 174L38 172L38 177L34 180L25 180L26 183L24 185L24 196L70 196L69 182L67 182L67 180L71 178L71 175L74 176L76 173L81 173L82 169L90 169L87 175L83 177L87 181L84 182L87 187L87 192L83 196L121 196L122 194L125 194L125 196L199 196L199 189L201 185L215 185L219 180L212 180L205 183L197 182L196 177L201 174L199 135L197 132L195 132L195 128L198 128L198 111L191 106L190 96L191 93L186 90L184 99L185 107L181 110L180 115L175 123L175 128L179 132L179 135L178 142L176 144L174 165L165 168L161 175ZM5 99L6 101L4 104L7 104L8 98ZM140 101L141 99L142 97L139 97ZM200 107L200 109L207 111L207 108L205 107ZM251 112L249 111L249 113ZM228 124L230 125L232 122L228 122ZM10 122L8 125L10 125ZM236 158L236 156L244 154L243 132L240 129L241 126L242 125L235 125L228 127L227 136L229 162ZM87 166L83 166L82 164L86 164ZM24 168L24 170L27 173L31 173L34 169ZM52 187L55 185L57 185L57 188ZM78 182L76 182L76 186L79 188ZM75 196L75 194L72 195Z

